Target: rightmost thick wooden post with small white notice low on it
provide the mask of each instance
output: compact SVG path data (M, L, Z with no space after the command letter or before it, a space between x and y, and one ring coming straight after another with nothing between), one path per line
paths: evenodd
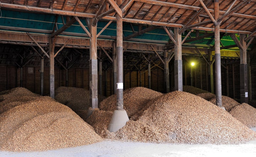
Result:
M245 41L246 35L240 34L240 101L241 103L248 103L248 74L247 74L247 44Z

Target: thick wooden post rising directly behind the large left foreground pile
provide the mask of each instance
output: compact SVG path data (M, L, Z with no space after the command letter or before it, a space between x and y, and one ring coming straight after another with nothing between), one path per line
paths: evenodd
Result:
M49 38L49 60L50 60L50 97L54 99L54 47L56 36Z

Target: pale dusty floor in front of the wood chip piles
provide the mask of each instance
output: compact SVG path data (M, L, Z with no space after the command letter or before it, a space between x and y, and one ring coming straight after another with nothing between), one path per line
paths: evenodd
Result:
M256 131L256 128L251 128ZM216 157L256 156L256 140L239 145L150 144L104 140L102 142L43 152L2 152L0 157Z

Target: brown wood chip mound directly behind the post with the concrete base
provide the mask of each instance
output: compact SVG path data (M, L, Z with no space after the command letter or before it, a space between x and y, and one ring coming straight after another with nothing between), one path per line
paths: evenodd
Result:
M144 88L134 87L123 91L123 102L124 110L126 110L128 117L133 116L139 111L143 111L143 108L148 107L148 102L153 101L157 97L161 96L162 93ZM103 100L99 108L104 111L113 112L116 110L117 96L116 94Z

